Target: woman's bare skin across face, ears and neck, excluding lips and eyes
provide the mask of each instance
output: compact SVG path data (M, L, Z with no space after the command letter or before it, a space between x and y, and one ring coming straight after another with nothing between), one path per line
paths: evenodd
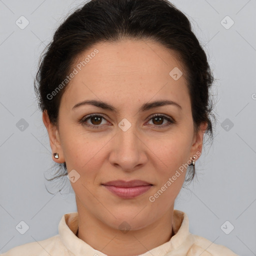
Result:
M174 80L169 75L174 67L182 70L173 52L153 41L101 42L82 52L73 67L95 48L99 52L71 79L61 97L58 125L49 121L47 112L42 119L52 153L59 153L58 159L52 159L65 161L68 173L75 169L80 175L70 182L78 212L77 236L107 255L138 255L174 234L174 200L185 171L154 202L148 198L179 166L201 152L207 124L202 123L194 133L185 77ZM72 110L86 99L107 102L117 112L93 105ZM182 109L163 105L139 111L143 103L165 99L177 102ZM99 128L79 123L94 113L104 117L96 121L89 118L86 123ZM166 126L166 119L157 122L153 114L176 122ZM123 118L131 124L126 131L118 126ZM141 179L153 186L135 198L123 199L101 185L116 179ZM118 227L123 221L130 226L126 233Z

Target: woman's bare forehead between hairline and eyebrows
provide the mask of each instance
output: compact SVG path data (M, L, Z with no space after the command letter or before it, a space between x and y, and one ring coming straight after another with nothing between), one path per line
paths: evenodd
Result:
M119 98L120 102L149 101L163 96L176 101L188 99L184 75L175 80L169 74L173 68L183 71L181 63L174 52L153 41L96 43L79 54L73 68L76 74L61 99L67 105L92 97L104 101Z

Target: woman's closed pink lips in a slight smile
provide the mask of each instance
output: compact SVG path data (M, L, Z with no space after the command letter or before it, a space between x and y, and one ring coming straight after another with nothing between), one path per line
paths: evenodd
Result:
M122 198L134 198L145 193L152 186L152 184L139 179L130 181L113 180L103 183L103 185L109 191Z

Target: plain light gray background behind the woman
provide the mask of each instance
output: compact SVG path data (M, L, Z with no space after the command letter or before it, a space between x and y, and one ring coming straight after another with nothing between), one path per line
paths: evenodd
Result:
M53 30L82 2L0 0L0 253L57 234L61 216L76 211L73 193L45 189L53 161L33 78ZM212 146L196 161L197 178L174 208L188 214L190 232L256 255L256 0L171 2L192 22L217 78L218 120ZM29 21L24 29L15 23L21 15ZM24 234L15 228L21 220L29 226Z

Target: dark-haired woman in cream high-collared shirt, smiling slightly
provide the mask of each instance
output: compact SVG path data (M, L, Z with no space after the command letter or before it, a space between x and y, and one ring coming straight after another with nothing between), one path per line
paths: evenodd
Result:
M91 0L56 30L35 91L77 212L11 255L237 255L174 200L212 136L205 52L166 0Z

